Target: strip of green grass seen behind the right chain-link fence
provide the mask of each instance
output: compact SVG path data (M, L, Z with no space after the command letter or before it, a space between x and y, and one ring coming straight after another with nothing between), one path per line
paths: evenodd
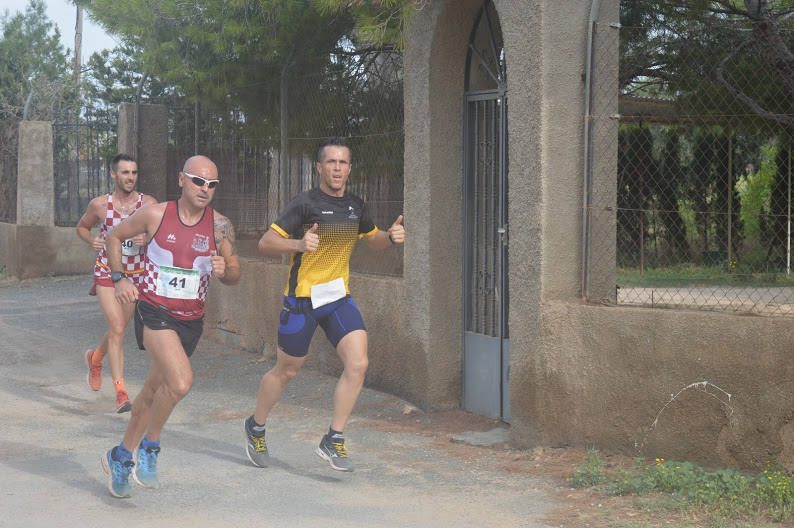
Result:
M665 268L618 268L617 283L624 288L689 287L689 286L794 286L794 273L757 273L731 270L727 266L696 266L678 264Z

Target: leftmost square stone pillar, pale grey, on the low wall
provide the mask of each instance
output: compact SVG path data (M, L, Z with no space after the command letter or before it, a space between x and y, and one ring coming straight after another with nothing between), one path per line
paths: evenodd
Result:
M55 225L52 123L20 122L17 167L17 225Z

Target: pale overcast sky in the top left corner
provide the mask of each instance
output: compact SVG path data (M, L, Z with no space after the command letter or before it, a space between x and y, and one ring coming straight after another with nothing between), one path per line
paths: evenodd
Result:
M47 16L55 22L61 31L64 48L74 49L74 18L76 8L69 0L44 0L47 4ZM17 11L25 11L28 0L2 0L0 12L6 9L13 15ZM83 12L83 62L95 51L112 49L116 42L97 24L91 21L88 13Z

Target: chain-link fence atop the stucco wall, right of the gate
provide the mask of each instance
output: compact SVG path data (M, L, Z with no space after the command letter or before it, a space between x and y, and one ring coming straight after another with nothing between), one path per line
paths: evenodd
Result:
M623 2L621 24L594 31L620 69L592 87L585 296L794 314L794 75L766 60L775 44L749 18L664 5ZM794 49L792 23L779 29Z

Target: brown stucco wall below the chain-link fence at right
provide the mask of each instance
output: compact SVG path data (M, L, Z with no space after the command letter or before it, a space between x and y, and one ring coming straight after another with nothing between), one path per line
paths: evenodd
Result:
M543 333L541 443L794 466L788 318L547 303Z

